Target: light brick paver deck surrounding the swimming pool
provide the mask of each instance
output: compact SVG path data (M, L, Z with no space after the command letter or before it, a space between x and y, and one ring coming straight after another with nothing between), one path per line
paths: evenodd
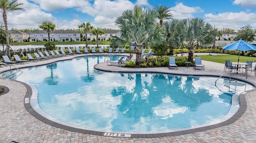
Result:
M44 65L58 60L71 59L81 55L60 57L39 62L30 62L24 65L14 65L18 68ZM224 64L202 61L206 65L205 70L194 70L186 67L168 69L162 68L122 68L108 66L101 63L95 66L96 69L112 70L119 72L162 72L170 74L193 74L193 75L218 75L224 73ZM0 72L10 70L9 67L0 67ZM232 77L245 79L245 74L232 74ZM254 82L254 73L248 74L248 82ZM0 78L0 85L10 89L7 94L0 96L0 143L17 141L20 143L194 143L194 142L215 142L215 143L254 143L256 141L256 91L248 92L245 96L247 108L245 113L237 121L230 125L217 127L206 131L189 133L158 138L120 138L98 135L88 135L60 129L48 125L29 114L24 107L24 96L26 87L21 82Z

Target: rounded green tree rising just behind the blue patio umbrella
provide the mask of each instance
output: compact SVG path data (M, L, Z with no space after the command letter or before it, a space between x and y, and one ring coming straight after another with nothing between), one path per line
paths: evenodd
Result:
M250 25L246 25L244 27L241 27L240 30L238 30L237 35L235 37L235 41L238 41L240 39L246 41L246 42L252 42L255 38L256 30L252 29Z

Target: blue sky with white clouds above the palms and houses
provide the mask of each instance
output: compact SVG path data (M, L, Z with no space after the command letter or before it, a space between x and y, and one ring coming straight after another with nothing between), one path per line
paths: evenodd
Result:
M9 0L10 1L10 0ZM118 29L117 17L134 6L168 6L172 18L202 18L218 30L239 30L250 25L256 29L256 0L18 0L22 11L9 12L8 29L35 29L44 21L56 29L78 29L90 22L95 28ZM4 25L3 19L0 22Z

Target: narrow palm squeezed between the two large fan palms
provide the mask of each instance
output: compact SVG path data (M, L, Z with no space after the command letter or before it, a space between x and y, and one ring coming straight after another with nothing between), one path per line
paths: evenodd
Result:
M174 46L172 43L168 42L169 39L172 37L172 33L174 32L174 26L179 22L177 19L173 19L170 22L164 22L164 29L165 29L165 36L166 36L166 42L168 43L169 47L169 53L167 55L173 55Z

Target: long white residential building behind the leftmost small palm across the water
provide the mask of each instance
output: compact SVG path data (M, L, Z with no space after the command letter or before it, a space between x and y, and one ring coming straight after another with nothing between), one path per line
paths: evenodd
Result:
M30 33L30 42L48 41L47 31ZM80 33L74 30L55 30L50 32L50 41L80 41Z

